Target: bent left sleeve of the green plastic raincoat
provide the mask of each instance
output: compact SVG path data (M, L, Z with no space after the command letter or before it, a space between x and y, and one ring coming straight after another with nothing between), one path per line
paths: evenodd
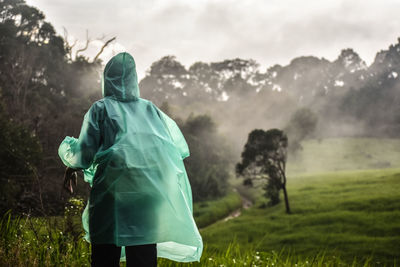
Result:
M94 104L85 114L79 138L67 136L58 148L62 162L74 169L91 169L100 146L99 107Z

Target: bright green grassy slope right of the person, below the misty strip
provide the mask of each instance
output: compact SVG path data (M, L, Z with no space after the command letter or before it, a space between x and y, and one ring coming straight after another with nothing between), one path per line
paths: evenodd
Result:
M292 215L283 203L256 206L201 233L209 248L236 240L241 249L327 255L378 261L400 259L400 169L351 171L293 178Z

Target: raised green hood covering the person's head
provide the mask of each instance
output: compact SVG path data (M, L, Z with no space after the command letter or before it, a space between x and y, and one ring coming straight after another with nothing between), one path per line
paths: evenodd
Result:
M129 53L119 53L108 61L102 79L103 97L133 101L140 97L135 60Z

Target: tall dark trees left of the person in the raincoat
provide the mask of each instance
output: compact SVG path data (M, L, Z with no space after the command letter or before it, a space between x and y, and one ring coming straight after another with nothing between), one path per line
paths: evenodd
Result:
M67 199L60 198L63 167L55 151L63 136L79 133L84 112L100 95L100 64L82 57L69 60L63 38L41 11L25 1L1 1L0 14L1 123L6 123L4 118L9 121L2 127L8 139L2 141L17 153L6 157L10 150L3 150L0 159L7 166L2 168L2 186L11 181L6 190L8 208L61 213Z

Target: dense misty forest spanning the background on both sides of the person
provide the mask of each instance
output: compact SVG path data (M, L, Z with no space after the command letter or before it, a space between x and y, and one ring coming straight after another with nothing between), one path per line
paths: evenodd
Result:
M2 212L63 211L69 195L61 190L58 146L79 134L83 115L101 98L103 62L82 52L40 10L0 0ZM202 200L225 194L255 128L285 129L289 146L310 136L399 137L399 74L400 40L370 66L352 49L334 61L306 56L267 70L239 58L187 68L166 56L150 66L140 89L178 121L191 149L185 163L194 199ZM88 190L81 182L77 194Z

